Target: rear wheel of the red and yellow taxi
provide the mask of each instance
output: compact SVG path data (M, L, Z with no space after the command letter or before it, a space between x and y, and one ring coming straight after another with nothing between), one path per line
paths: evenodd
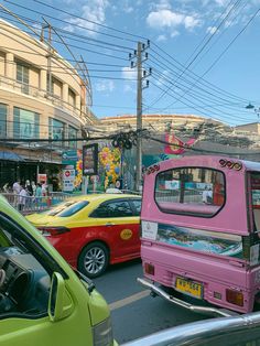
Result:
M88 278L97 278L105 272L108 262L108 248L99 241L94 241L83 249L78 259L78 270Z

